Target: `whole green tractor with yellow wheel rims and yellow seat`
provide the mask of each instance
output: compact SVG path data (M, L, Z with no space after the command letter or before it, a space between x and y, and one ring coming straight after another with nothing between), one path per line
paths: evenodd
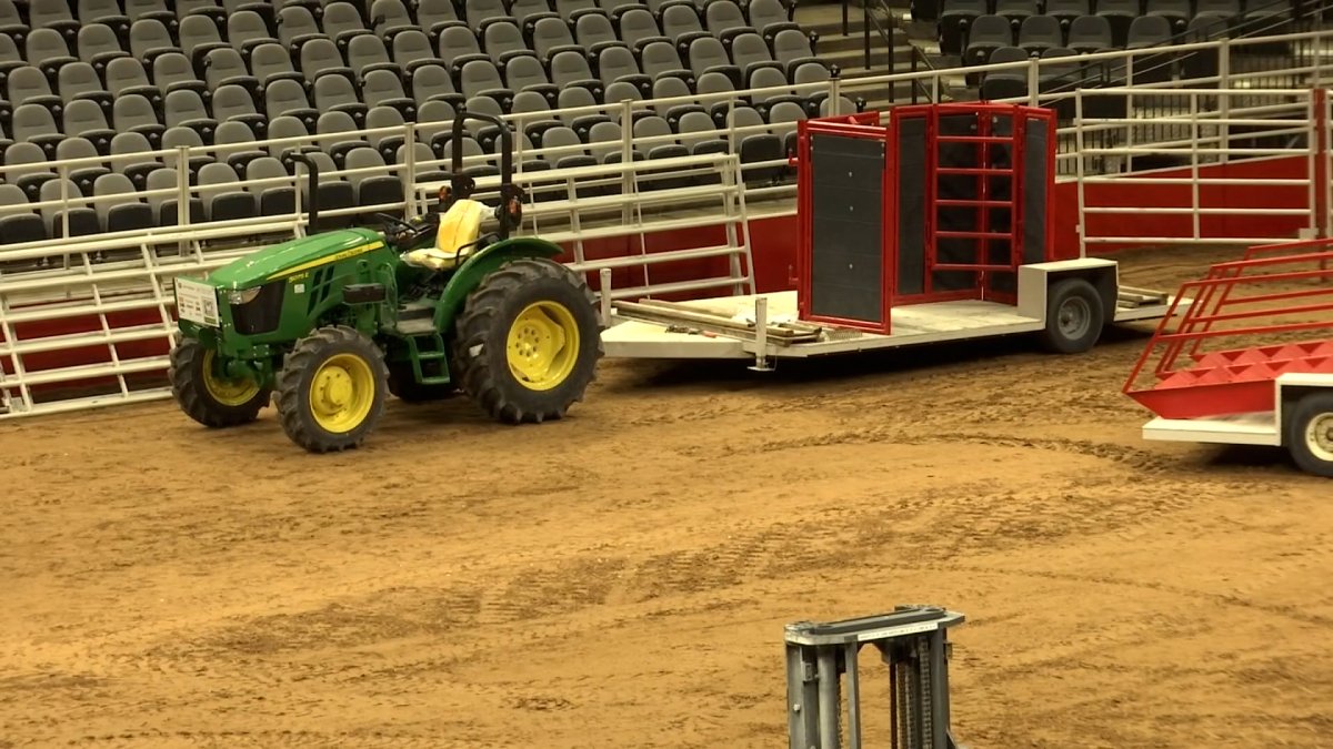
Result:
M247 424L275 402L287 436L311 452L355 448L389 394L431 401L459 390L507 424L560 418L593 381L601 320L587 281L559 245L511 236L523 220L500 129L499 208L472 200L453 149L439 211L409 221L379 213L384 232L341 229L260 249L203 283L176 280L180 341L171 352L176 402L207 426ZM319 168L309 225L319 217ZM493 217L499 228L481 232Z

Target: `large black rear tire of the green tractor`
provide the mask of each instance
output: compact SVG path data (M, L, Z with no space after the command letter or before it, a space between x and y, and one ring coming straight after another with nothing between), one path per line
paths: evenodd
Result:
M532 305L544 305L543 317ZM564 312L560 312L564 311ZM556 321L551 313L564 317ZM564 348L556 357L557 369L568 369L545 389L525 384L511 367L509 333L519 323L523 340L515 357L537 356L541 332L560 331L568 341L577 336L576 349ZM584 398L597 377L597 361L604 356L601 316L597 297L583 276L555 260L521 259L501 265L468 295L455 325L453 360L459 363L463 389L492 418L503 424L540 424L561 418ZM525 348L527 347L527 348Z

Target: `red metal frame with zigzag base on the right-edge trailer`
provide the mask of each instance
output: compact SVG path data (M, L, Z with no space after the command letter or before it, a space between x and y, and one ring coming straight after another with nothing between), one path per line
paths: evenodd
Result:
M1157 416L1273 410L1280 374L1333 373L1333 240L1250 248L1181 297L1194 304L1172 305L1125 381Z

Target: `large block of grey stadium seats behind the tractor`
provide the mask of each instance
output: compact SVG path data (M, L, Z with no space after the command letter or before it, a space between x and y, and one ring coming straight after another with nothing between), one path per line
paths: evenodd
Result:
M794 121L829 101L780 92L728 113L689 97L828 80L837 69L816 41L784 0L0 0L0 244L64 236L67 224L69 236L176 224L167 191L179 188L177 159L159 149L232 147L189 159L203 188L191 221L293 212L297 188L248 184L292 175L289 145L245 147L255 140L325 136L313 156L321 173L405 165L411 151L417 179L439 179L453 148L496 152L481 128L449 141L460 107L525 113L521 149L572 148L529 156L524 171L619 160L627 127L666 136L636 159L726 151L717 131L730 121L772 125L737 143L742 161L780 160ZM682 100L632 123L543 116L665 97ZM356 132L405 123L419 124L416 143ZM64 177L48 164L80 157L89 161ZM403 200L388 171L319 189L329 209ZM84 196L121 197L68 217L21 211Z

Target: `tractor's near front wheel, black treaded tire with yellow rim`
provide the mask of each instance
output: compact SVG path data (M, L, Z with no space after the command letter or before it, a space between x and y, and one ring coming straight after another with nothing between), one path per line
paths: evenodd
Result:
M283 430L312 453L359 446L384 416L388 397L384 352L347 325L319 328L297 341L277 374ZM340 406L349 412L345 422L335 412Z

